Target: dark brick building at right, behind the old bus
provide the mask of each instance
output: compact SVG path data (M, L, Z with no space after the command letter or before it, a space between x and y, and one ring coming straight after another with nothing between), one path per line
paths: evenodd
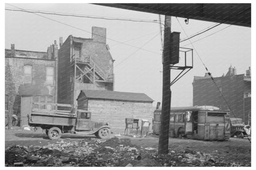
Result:
M226 75L214 77L218 88L230 106L231 117L242 118L244 123L250 124L251 114L251 74L250 67L244 74L236 74L236 68L230 66ZM204 77L194 76L193 106L216 106L228 109L220 91L212 79L206 74Z

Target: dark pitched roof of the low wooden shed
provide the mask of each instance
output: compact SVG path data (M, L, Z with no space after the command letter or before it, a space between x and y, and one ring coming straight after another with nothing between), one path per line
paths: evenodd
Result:
M154 100L145 93L130 93L108 90L81 90L88 99L110 99L119 101L153 102ZM79 95L79 96L80 96ZM78 97L79 98L79 97Z

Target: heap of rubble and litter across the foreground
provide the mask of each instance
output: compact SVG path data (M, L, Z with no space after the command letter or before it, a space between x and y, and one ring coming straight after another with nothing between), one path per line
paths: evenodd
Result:
M83 139L46 146L6 149L6 166L250 166L186 149L158 155L155 148L132 145L129 138Z

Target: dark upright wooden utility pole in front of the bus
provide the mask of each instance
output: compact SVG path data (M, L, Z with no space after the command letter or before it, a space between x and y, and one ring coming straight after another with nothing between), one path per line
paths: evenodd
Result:
M158 153L168 153L170 125L170 24L171 17L166 15L164 20L164 53L162 56L162 114L158 143Z

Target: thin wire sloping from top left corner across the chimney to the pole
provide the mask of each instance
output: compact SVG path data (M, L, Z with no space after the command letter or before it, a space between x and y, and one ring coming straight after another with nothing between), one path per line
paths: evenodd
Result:
M12 7L16 7L16 6L13 6L13 5L10 5L10 4L8 4L8 5L9 5L9 6L12 6ZM20 7L16 7L16 8L22 9L22 8L20 8ZM22 9L22 10L24 10L24 9ZM48 19L48 20L52 20L52 21L55 21L55 22L57 22L57 23L61 23L61 24L66 25L66 26L70 26L71 28L75 28L75 29L78 29L78 30L80 30L80 31L84 31L84 32L86 32L86 33L91 34L90 31L86 31L86 30L81 29L81 28L78 28L78 27L76 27L76 26L68 25L68 24L63 23L63 22L58 21L58 20L54 20L54 19L52 19L52 18L45 17L45 16L42 16L42 15L39 15L39 14L36 14L36 13L31 13L31 14L38 15L39 17L43 17L43 18L46 18L46 19ZM103 36L100 35L100 34L95 34L95 35L100 36L100 37L103 37ZM153 52L153 51L151 51L151 50L146 50L146 49L140 48L140 47L135 47L134 45L126 44L126 43L123 43L123 42L120 42L120 41L116 41L116 40L114 40L114 39L110 39L110 38L106 38L106 39L108 39L108 40L110 40L110 41L118 42L119 44L124 44L124 45L128 45L128 46L130 46L130 47L138 48L138 49L144 50L144 51L146 51L146 52L151 52L151 53L156 53L156 54L158 54L158 55L162 55L161 53Z

